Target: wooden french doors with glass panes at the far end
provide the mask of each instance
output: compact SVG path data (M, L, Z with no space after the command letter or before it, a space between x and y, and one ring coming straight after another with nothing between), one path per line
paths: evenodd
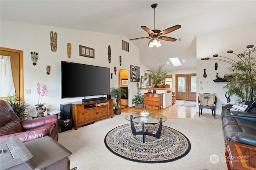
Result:
M176 99L196 101L196 74L178 74L175 77Z

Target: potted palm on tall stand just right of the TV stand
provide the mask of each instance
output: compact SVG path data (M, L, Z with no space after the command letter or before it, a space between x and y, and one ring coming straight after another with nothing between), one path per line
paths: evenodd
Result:
M113 98L116 98L116 109L115 114L119 115L121 114L121 107L120 107L120 99L122 96L126 97L126 90L120 88L120 87L111 87L110 95Z

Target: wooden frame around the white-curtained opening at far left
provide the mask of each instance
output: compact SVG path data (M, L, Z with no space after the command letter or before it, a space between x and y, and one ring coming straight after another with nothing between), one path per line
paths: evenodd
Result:
M5 47L0 47L0 50L3 51L10 51L10 52L15 52L15 53L19 53L19 67L20 67L20 71L19 71L19 78L20 78L20 83L19 83L19 87L20 87L20 101L24 102L24 86L23 86L23 51L18 50L18 49L11 49L11 48L5 48Z

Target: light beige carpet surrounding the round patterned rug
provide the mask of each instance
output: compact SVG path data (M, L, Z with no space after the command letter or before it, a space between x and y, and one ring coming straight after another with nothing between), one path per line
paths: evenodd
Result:
M164 126L174 128L184 134L191 143L190 152L183 158L166 163L132 162L110 152L105 144L106 134L115 127L130 123L124 119L126 113L96 121L92 125L68 130L59 134L58 142L72 152L70 167L78 170L225 170L225 145L220 117L203 114L200 118L168 119ZM219 161L210 162L216 154Z

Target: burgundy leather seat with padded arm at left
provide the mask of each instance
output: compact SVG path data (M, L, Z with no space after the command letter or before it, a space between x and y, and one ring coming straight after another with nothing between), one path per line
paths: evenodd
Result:
M44 136L58 141L58 117L50 115L20 121L9 103L0 100L0 139L11 136L17 136L22 142Z

